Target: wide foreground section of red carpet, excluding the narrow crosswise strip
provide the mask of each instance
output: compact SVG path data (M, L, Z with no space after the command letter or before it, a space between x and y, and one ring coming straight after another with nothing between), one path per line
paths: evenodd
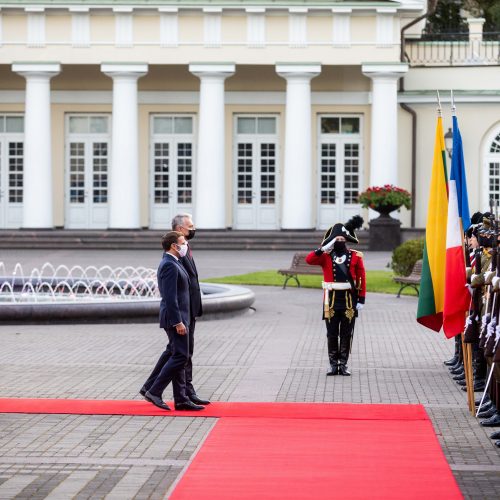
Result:
M430 421L223 418L170 498L443 500L462 495Z

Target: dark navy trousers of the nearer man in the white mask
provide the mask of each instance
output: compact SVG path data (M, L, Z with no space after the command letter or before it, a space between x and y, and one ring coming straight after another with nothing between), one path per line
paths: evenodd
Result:
M153 396L161 397L167 385L172 382L174 401L181 403L188 399L185 368L189 359L189 333L179 335L175 328L165 328L165 331L169 344L144 385ZM151 384L149 388L148 383Z

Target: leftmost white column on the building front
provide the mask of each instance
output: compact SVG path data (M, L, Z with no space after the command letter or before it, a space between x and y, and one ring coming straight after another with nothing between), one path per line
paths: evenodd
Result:
M50 79L61 71L61 65L16 63L12 71L26 78L22 227L48 229L54 225Z

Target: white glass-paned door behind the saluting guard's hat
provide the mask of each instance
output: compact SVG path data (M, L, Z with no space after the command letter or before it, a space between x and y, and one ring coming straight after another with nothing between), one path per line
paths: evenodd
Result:
M360 116L320 116L318 145L318 228L347 222L361 211L362 120Z

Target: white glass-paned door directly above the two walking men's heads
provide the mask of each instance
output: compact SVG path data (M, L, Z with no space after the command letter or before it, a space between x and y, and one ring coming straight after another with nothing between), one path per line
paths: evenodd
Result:
M150 227L170 229L179 213L193 213L192 116L151 117Z

